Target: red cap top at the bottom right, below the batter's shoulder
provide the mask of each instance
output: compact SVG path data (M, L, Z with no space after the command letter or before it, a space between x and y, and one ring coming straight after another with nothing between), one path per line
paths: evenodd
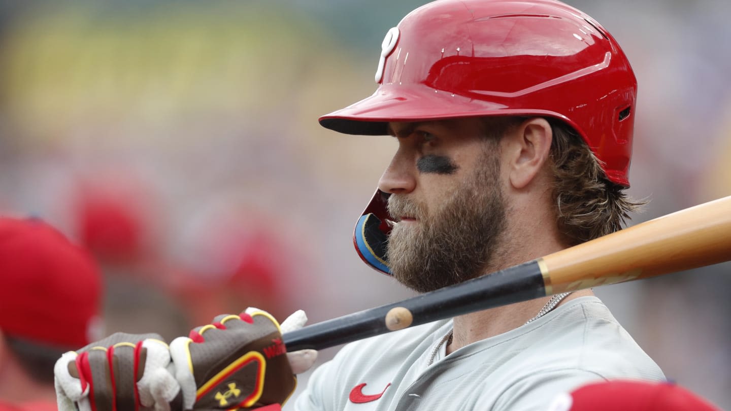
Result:
M720 411L673 382L613 380L558 396L550 411Z

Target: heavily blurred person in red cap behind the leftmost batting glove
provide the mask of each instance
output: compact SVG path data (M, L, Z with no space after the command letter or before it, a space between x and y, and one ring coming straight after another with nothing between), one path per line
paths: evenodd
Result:
M76 173L67 188L70 226L91 253L105 285L105 328L170 339L196 323L167 290L172 269L161 241L159 191L133 167ZM186 301L195 305L196 299Z

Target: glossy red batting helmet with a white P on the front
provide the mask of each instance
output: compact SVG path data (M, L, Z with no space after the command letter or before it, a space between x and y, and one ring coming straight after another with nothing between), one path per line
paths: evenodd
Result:
M560 1L426 4L388 31L376 83L371 97L322 116L320 124L386 135L389 121L558 118L583 137L610 181L629 186L637 80L616 40ZM383 208L371 202L374 207ZM362 257L378 247L363 245ZM375 257L368 263L387 272Z

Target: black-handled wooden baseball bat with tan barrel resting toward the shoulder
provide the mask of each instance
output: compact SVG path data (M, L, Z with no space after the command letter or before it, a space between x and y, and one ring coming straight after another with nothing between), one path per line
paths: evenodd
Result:
M322 350L534 298L731 260L731 196L397 303L284 333L287 351Z

